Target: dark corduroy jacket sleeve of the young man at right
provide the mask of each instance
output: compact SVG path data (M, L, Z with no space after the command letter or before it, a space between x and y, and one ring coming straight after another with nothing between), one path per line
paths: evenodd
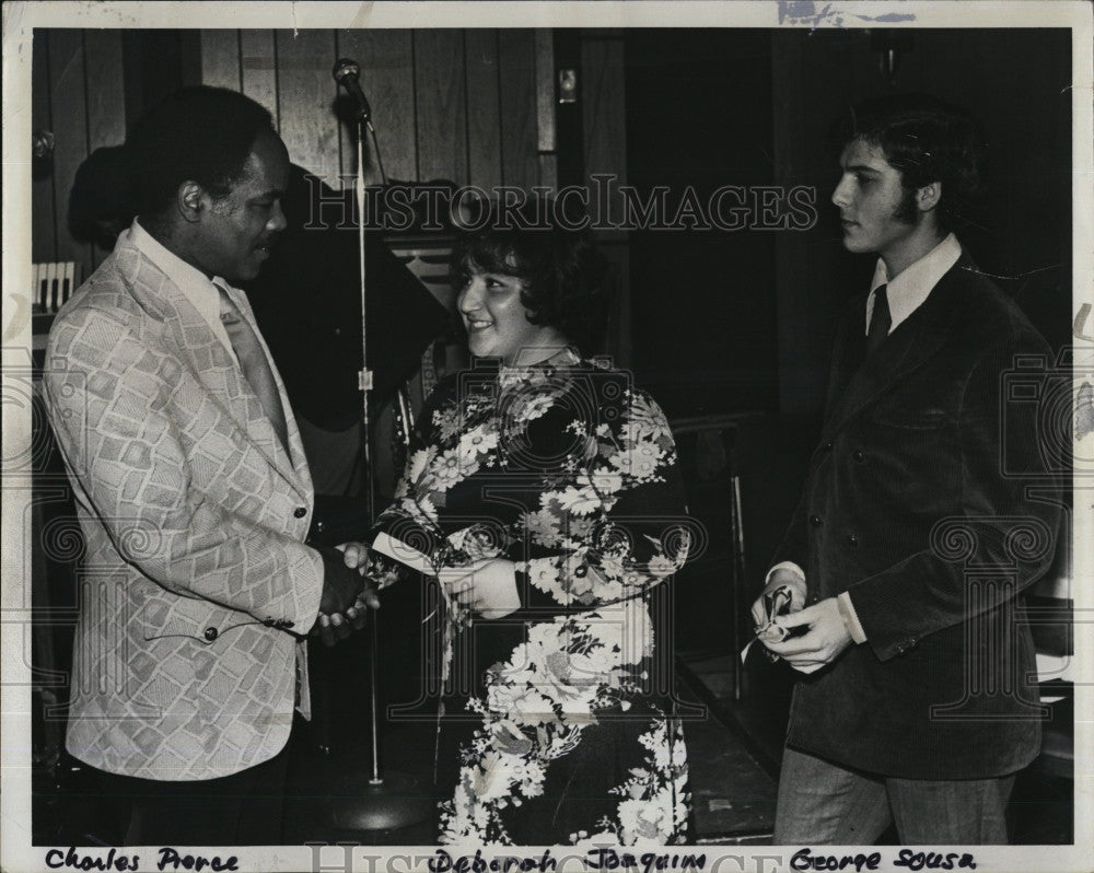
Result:
M935 524L928 548L849 589L866 641L882 660L998 607L1051 563L1059 508L1026 494L1031 475L1044 476L1038 404L1004 396L1002 374L1019 349L1043 351L1044 342L1008 337L994 344L965 384L959 504Z

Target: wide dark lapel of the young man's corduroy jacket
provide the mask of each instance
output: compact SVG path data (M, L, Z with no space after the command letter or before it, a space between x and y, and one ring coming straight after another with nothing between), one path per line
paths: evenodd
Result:
M953 329L964 272L968 269L975 267L968 256L963 255L939 280L922 305L861 364L856 362L862 361L865 349L861 336L865 299L862 299L862 307L848 313L841 325L833 368L834 380L845 380L845 386L836 382L831 385L829 398L834 401L825 416L822 442L830 440L847 422L939 353Z

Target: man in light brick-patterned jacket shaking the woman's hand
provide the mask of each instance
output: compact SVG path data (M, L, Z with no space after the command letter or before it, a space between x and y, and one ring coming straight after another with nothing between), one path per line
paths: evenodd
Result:
M45 374L88 544L67 747L131 799L127 843L278 843L305 636L375 605L304 543L296 422L229 284L284 228L289 159L266 109L210 88L127 151L138 218L58 315Z

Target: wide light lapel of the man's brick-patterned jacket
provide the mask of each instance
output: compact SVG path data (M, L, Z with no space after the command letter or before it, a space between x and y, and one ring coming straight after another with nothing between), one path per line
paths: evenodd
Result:
M144 257L127 236L118 238L115 254L121 277L133 299L152 317L163 323L178 349L179 361L206 387L210 401L235 421L269 465L306 498L311 493L311 477L304 461L300 431L277 368L274 368L274 374L286 410L291 455L281 445L261 403L238 364L178 286ZM233 294L237 304L240 296L238 293ZM246 306L246 312L251 312L249 305Z

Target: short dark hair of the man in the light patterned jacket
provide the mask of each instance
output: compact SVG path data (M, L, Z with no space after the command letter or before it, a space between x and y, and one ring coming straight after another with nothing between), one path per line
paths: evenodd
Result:
M226 197L258 135L272 129L269 112L236 91L195 85L164 97L126 139L138 214L162 216L187 181Z

